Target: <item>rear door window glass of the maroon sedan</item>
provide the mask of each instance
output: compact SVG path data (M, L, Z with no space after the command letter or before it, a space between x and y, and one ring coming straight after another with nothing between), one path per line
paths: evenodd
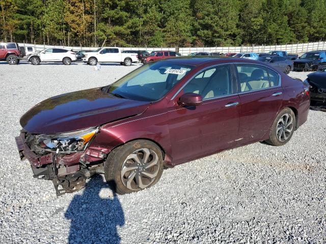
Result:
M266 68L254 65L237 65L241 92L269 87Z

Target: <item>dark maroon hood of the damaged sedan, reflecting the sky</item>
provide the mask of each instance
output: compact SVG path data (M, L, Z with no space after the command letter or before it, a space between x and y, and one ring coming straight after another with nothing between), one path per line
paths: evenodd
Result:
M140 114L148 105L117 98L101 88L80 90L42 101L20 118L20 125L35 134L75 131Z

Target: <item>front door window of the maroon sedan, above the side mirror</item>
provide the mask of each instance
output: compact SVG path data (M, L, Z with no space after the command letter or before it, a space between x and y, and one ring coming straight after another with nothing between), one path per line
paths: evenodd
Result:
M185 85L183 93L197 93L203 99L232 94L230 66L216 66L202 71Z

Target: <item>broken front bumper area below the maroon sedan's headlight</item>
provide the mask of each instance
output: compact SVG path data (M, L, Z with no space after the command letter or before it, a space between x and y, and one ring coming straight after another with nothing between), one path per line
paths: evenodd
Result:
M33 177L52 180L57 196L78 191L85 186L87 178L95 173L104 173L105 154L86 148L72 154L48 153L37 155L26 143L26 133L15 138L20 160L30 161Z

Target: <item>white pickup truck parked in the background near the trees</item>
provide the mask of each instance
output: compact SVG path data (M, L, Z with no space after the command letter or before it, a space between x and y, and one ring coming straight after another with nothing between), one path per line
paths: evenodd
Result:
M138 62L138 55L137 53L122 53L118 47L101 47L94 52L85 52L83 62L89 65L120 63L130 66L132 63Z

